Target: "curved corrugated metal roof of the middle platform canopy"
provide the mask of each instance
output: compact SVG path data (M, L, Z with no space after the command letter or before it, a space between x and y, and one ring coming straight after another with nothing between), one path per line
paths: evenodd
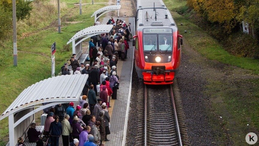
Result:
M95 25L91 27L87 27L83 30L78 31L68 42L71 43L73 40L77 40L81 37L88 36L95 33L109 33L112 29L113 25L101 24Z

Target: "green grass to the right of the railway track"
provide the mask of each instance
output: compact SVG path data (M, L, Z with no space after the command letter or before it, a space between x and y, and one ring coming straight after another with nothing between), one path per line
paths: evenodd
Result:
M172 13L179 33L183 35L184 44L208 59L233 65L226 66L230 72L235 73L235 70L239 70L235 69L237 66L245 69L242 76L250 74L247 75L248 79L227 76L229 78L225 80L220 75L218 78L207 78L208 84L206 91L204 91L204 94L210 97L212 104L212 107L207 107L210 111L208 121L213 129L218 131L218 134L221 133L216 135L218 144L226 144L228 134L234 145L246 144L245 135L259 129L259 60L229 54L216 39L195 25L194 22L177 14L175 10L184 7L186 1L164 0L164 3ZM180 23L183 23L183 26ZM187 33L184 33L184 30L187 30ZM183 45L183 52L185 52L184 49ZM222 119L215 118L212 113L218 117L222 116Z

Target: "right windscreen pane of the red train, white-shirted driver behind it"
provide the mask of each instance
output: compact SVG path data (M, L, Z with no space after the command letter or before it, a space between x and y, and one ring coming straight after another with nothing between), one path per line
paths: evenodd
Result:
M159 51L172 51L172 35L159 34Z

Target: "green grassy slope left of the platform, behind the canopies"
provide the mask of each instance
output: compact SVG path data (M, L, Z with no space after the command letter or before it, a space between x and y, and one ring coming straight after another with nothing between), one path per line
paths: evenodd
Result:
M50 1L46 1L50 2ZM53 42L56 42L57 51L55 53L56 60L56 75L61 70L61 66L68 58L70 58L72 51L62 52L63 45L67 44L67 41L79 30L89 27L94 23L94 17L91 15L94 11L105 6L105 4L85 5L83 6L83 14L79 15L78 7L73 3L77 1L61 0L61 3L65 3L67 8L61 11L61 17L65 16L64 20L73 17L72 21L83 21L76 24L68 24L65 21L61 21L61 33L57 32L55 26L49 26L47 29L40 29L35 31L37 28L33 25L29 28L27 24L21 23L18 29L21 32L33 32L32 34L21 38L18 36L17 48L18 48L18 66L13 66L13 46L11 40L2 40L0 42L0 113L16 99L16 97L25 88L41 81L45 78L51 77L51 53L50 47ZM89 0L84 1L89 2ZM98 1L95 1L98 2ZM100 1L101 2L101 1ZM102 1L103 2L103 1ZM106 2L106 1L105 1ZM47 5L42 3L42 5ZM42 7L44 8L44 7ZM43 10L39 10L43 11ZM56 13L56 12L55 12ZM42 19L39 17L39 19ZM55 21L56 17L50 17L47 22L38 22L39 28L48 26L52 21ZM62 18L61 18L62 20ZM25 26L25 27L23 27ZM18 34L19 35L19 34ZM72 45L71 45L72 46ZM72 49L70 49L72 50ZM20 51L20 52L19 52ZM6 144L8 141L8 118L0 121L0 145Z

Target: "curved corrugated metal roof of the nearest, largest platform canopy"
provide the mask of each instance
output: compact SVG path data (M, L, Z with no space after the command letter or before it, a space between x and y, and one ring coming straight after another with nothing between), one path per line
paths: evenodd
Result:
M40 100L46 102L77 101L81 95L88 75L61 75L39 81L24 89L13 103L0 116L0 120L15 113L15 109L23 109L38 104ZM53 100L53 101L51 101ZM37 101L37 102L36 102Z

